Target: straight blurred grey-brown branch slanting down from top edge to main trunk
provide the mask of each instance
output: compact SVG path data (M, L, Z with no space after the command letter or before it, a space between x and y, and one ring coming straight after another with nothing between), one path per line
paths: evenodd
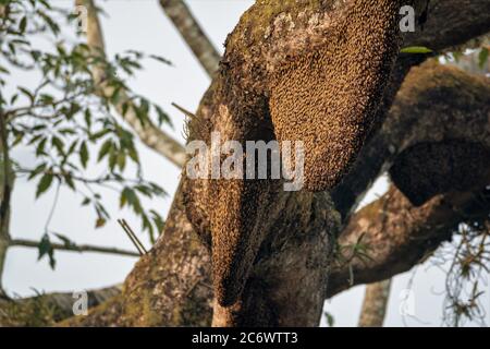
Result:
M210 77L218 71L216 50L183 0L160 0L160 5Z

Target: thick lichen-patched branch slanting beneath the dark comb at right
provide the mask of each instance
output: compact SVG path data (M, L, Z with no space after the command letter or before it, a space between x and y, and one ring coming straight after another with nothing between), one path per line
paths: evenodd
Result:
M356 213L339 238L343 258L332 268L327 298L355 285L384 280L409 270L452 237L468 217L487 217L488 191L438 195L414 206L396 188ZM352 255L351 246L363 244L368 256Z

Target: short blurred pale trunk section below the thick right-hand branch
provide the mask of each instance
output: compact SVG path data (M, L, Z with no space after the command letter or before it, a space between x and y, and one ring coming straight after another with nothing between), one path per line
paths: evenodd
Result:
M390 297L391 279L366 286L359 327L382 327Z

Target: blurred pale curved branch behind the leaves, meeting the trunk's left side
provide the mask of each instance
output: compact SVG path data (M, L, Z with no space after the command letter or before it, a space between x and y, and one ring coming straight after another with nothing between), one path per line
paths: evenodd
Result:
M87 45L93 49L95 55L105 56L105 44L102 28L97 15L97 9L94 0L76 0L78 5L87 8ZM103 84L105 71L102 68L96 68L93 71L94 79L98 82L100 87L100 94L105 96L112 95L112 87ZM128 108L124 112L124 104L127 104ZM150 120L147 120L143 125L139 121L134 105L127 96L125 91L121 91L118 103L113 105L114 109L121 116L121 118L133 129L139 140L149 148L161 154L168 158L172 164L177 167L182 167L185 164L186 154L184 147L170 135L160 130Z

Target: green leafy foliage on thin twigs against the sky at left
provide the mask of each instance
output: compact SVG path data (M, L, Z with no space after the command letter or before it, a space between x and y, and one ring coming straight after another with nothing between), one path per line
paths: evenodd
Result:
M118 193L121 208L127 206L140 217L142 229L155 241L163 219L155 210L146 210L140 198L162 197L166 192L144 179L136 140L111 109L118 103L122 103L123 113L134 108L142 127L151 119L170 123L159 106L126 85L147 57L127 51L107 59L90 50L76 34L76 16L47 0L0 0L0 11L1 122L7 125L9 152L27 148L36 158L30 167L14 158L15 176L37 181L36 197L54 185L71 189L81 195L82 206L95 209L96 228L110 219L100 193L102 188L110 189ZM73 33L62 32L62 21ZM68 39L73 34L75 43ZM52 43L49 50L39 48L42 38ZM157 56L149 58L170 63ZM103 75L95 76L97 70ZM39 75L38 84L15 85L12 76L19 71ZM100 93L101 85L111 94ZM88 176L95 171L100 174ZM49 233L47 225L39 257L47 255L54 267Z

